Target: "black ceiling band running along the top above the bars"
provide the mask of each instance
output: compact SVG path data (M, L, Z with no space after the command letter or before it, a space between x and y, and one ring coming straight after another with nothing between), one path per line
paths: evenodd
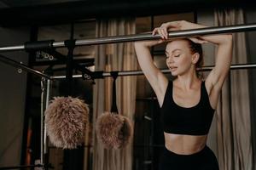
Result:
M253 0L87 0L0 9L1 26L42 25L103 17L175 14L202 8L253 6ZM8 17L7 17L8 16Z

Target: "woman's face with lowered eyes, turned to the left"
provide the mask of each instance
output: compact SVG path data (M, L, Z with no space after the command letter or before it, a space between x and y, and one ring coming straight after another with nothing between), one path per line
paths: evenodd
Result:
M177 77L187 73L193 65L193 54L189 42L183 39L168 42L166 45L166 65L172 76Z

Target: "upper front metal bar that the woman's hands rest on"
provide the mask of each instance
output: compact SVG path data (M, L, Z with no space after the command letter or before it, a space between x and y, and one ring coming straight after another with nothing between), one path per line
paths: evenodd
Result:
M218 27L207 27L194 30L185 30L185 31L171 31L169 32L169 37L195 37L208 34L221 34L227 32L241 32L241 31L255 31L256 24L247 24L247 25L236 25L236 26L218 26ZM153 36L151 33L143 34L134 34L126 36L113 36L113 37L97 37L84 40L76 40L76 46L88 46L88 45L98 45L106 43L117 43L117 42L135 42L143 40L152 40L160 39L159 35ZM63 48L65 47L64 41L62 42L53 42L52 47L54 48ZM2 51L15 51L25 49L25 45L20 46L10 46L0 48Z

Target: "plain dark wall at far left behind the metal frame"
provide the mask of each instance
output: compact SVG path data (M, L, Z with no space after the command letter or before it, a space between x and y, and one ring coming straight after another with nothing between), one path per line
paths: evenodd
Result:
M17 45L29 40L26 27L0 27L0 47ZM3 53L0 53L3 54ZM27 64L24 52L3 54ZM26 72L0 62L0 167L20 165L23 119L26 101Z

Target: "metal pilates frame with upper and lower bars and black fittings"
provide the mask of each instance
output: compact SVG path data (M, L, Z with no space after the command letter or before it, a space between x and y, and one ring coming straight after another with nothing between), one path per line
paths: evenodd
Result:
M176 37L195 37L202 35L210 34L221 34L227 32L241 32L241 31L255 31L256 24L249 25L236 25L236 26L219 26L219 27L207 27L195 30L186 30L186 31L171 31L169 32L170 38ZM114 36L114 37L99 37L99 38L90 38L84 40L66 40L63 42L55 42L54 40L49 41L38 41L38 42L25 42L22 45L9 46L9 47L0 47L0 52L9 52L9 51L19 51L26 50L26 52L32 51L44 51L47 54L51 54L55 59L63 59L61 54L55 52L55 48L66 47L68 49L68 54L66 58L66 75L63 76L50 76L42 71L34 70L27 65L23 65L18 61L9 59L6 56L0 54L0 61L12 65L18 69L18 72L27 71L38 77L42 77L41 81L41 128L40 128L40 163L37 165L30 166L16 166L16 167L0 167L0 169L13 169L13 168L25 168L25 167L42 167L47 169L49 165L45 164L44 156L47 153L47 137L46 137L46 127L44 122L44 110L49 106L49 90L50 84L54 80L66 79L67 82L72 82L74 78L84 78L85 80L94 80L104 77L113 77L113 74L116 76L137 76L143 75L143 71L90 71L84 66L73 63L73 49L78 46L89 46L89 45L99 45L107 43L118 43L118 42L135 42L143 40L153 40L160 39L159 35L151 35L150 33L137 34L137 35L127 35L127 36ZM211 71L213 65L203 66L199 71ZM251 69L256 68L256 64L238 64L231 65L231 70L238 69ZM81 72L79 75L73 75L73 69L77 69ZM161 70L163 73L169 73L168 69ZM71 88L71 83L68 83L68 86Z

